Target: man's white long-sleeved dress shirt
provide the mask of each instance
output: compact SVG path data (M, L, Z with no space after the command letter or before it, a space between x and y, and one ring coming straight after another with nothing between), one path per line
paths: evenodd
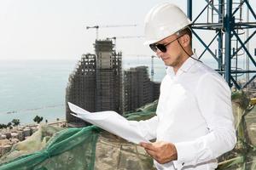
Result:
M215 169L216 158L236 144L230 88L216 71L195 59L187 59L176 74L167 68L156 115L131 121L131 126L146 139L175 144L177 161L154 161L158 169Z

